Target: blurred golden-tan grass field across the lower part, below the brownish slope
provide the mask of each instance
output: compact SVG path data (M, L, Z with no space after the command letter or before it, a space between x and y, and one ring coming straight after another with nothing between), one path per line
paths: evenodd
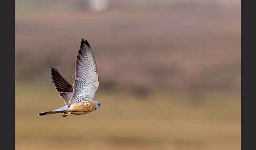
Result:
M240 98L99 90L100 110L37 116L64 104L54 85L16 83L16 149L241 149Z

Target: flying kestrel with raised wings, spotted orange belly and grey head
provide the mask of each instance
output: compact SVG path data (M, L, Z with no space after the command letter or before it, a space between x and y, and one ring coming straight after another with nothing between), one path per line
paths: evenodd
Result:
M55 67L51 67L51 74L52 82L65 105L52 111L40 113L39 116L63 113L62 116L66 117L70 114L81 115L100 109L100 102L93 100L99 87L99 75L92 48L86 39L82 38L76 57L73 87Z

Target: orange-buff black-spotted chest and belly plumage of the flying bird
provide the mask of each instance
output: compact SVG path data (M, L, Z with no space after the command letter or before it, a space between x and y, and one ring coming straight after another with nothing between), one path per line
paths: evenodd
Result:
M94 102L86 101L71 105L70 111L72 114L85 114L94 111Z

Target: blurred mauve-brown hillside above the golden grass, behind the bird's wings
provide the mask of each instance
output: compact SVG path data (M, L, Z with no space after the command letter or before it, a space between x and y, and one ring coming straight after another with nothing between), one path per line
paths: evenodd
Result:
M72 83L86 38L102 89L240 90L238 3L108 1L97 11L88 2L16 2L17 82L50 82L57 67Z

